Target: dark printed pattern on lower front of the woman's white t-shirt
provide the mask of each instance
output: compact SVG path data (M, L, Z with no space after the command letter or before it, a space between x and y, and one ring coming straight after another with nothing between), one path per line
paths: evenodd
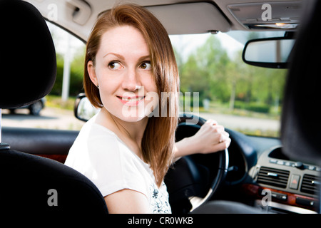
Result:
M168 202L168 192L165 183L158 189L156 184L150 185L151 192L151 209L154 214L170 214L170 204Z

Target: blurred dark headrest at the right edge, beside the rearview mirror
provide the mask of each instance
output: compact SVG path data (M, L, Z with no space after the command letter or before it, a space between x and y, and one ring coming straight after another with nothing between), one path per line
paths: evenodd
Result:
M321 1L305 1L282 110L284 152L293 158L321 164Z

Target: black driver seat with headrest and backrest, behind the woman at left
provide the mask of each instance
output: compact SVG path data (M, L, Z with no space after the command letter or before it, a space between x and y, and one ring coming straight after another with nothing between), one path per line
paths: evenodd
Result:
M19 108L47 95L56 80L56 53L39 11L0 0L1 108ZM32 143L32 142L31 142ZM71 167L0 144L0 208L5 214L107 214L93 182Z

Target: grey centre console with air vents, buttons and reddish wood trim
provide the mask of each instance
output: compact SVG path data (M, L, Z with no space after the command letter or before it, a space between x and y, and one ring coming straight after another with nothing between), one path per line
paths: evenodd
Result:
M258 159L258 164L250 170L256 182L251 191L259 199L258 205L270 207L274 212L313 213L318 207L320 167L290 160L282 152L282 147L266 150ZM267 195L269 194L269 195Z

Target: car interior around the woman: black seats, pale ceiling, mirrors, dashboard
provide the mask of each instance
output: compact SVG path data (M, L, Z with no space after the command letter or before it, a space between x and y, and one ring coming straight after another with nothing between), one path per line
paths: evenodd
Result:
M173 214L320 213L317 63L321 44L315 29L320 21L320 1L131 2L146 6L169 34L285 31L282 38L248 41L243 51L245 63L288 68L280 138L245 135L227 128L232 139L228 150L180 158L165 176ZM261 8L265 3L274 13L264 20L263 16L269 16ZM0 205L6 212L108 214L97 187L63 165L77 130L1 128L1 108L29 105L53 88L56 52L46 21L86 43L97 16L114 4L115 1L94 0L0 0L4 34L0 36ZM54 11L53 19L53 9L63 10ZM255 59L265 55L255 50L255 45L282 40L291 43L290 48L284 49L288 58ZM254 57L248 54L251 50ZM276 52L282 56L280 49ZM84 99L82 94L76 100L75 118L86 121L88 118L78 112ZM195 119L196 123L190 122ZM194 135L203 123L202 116L180 114L176 140Z

